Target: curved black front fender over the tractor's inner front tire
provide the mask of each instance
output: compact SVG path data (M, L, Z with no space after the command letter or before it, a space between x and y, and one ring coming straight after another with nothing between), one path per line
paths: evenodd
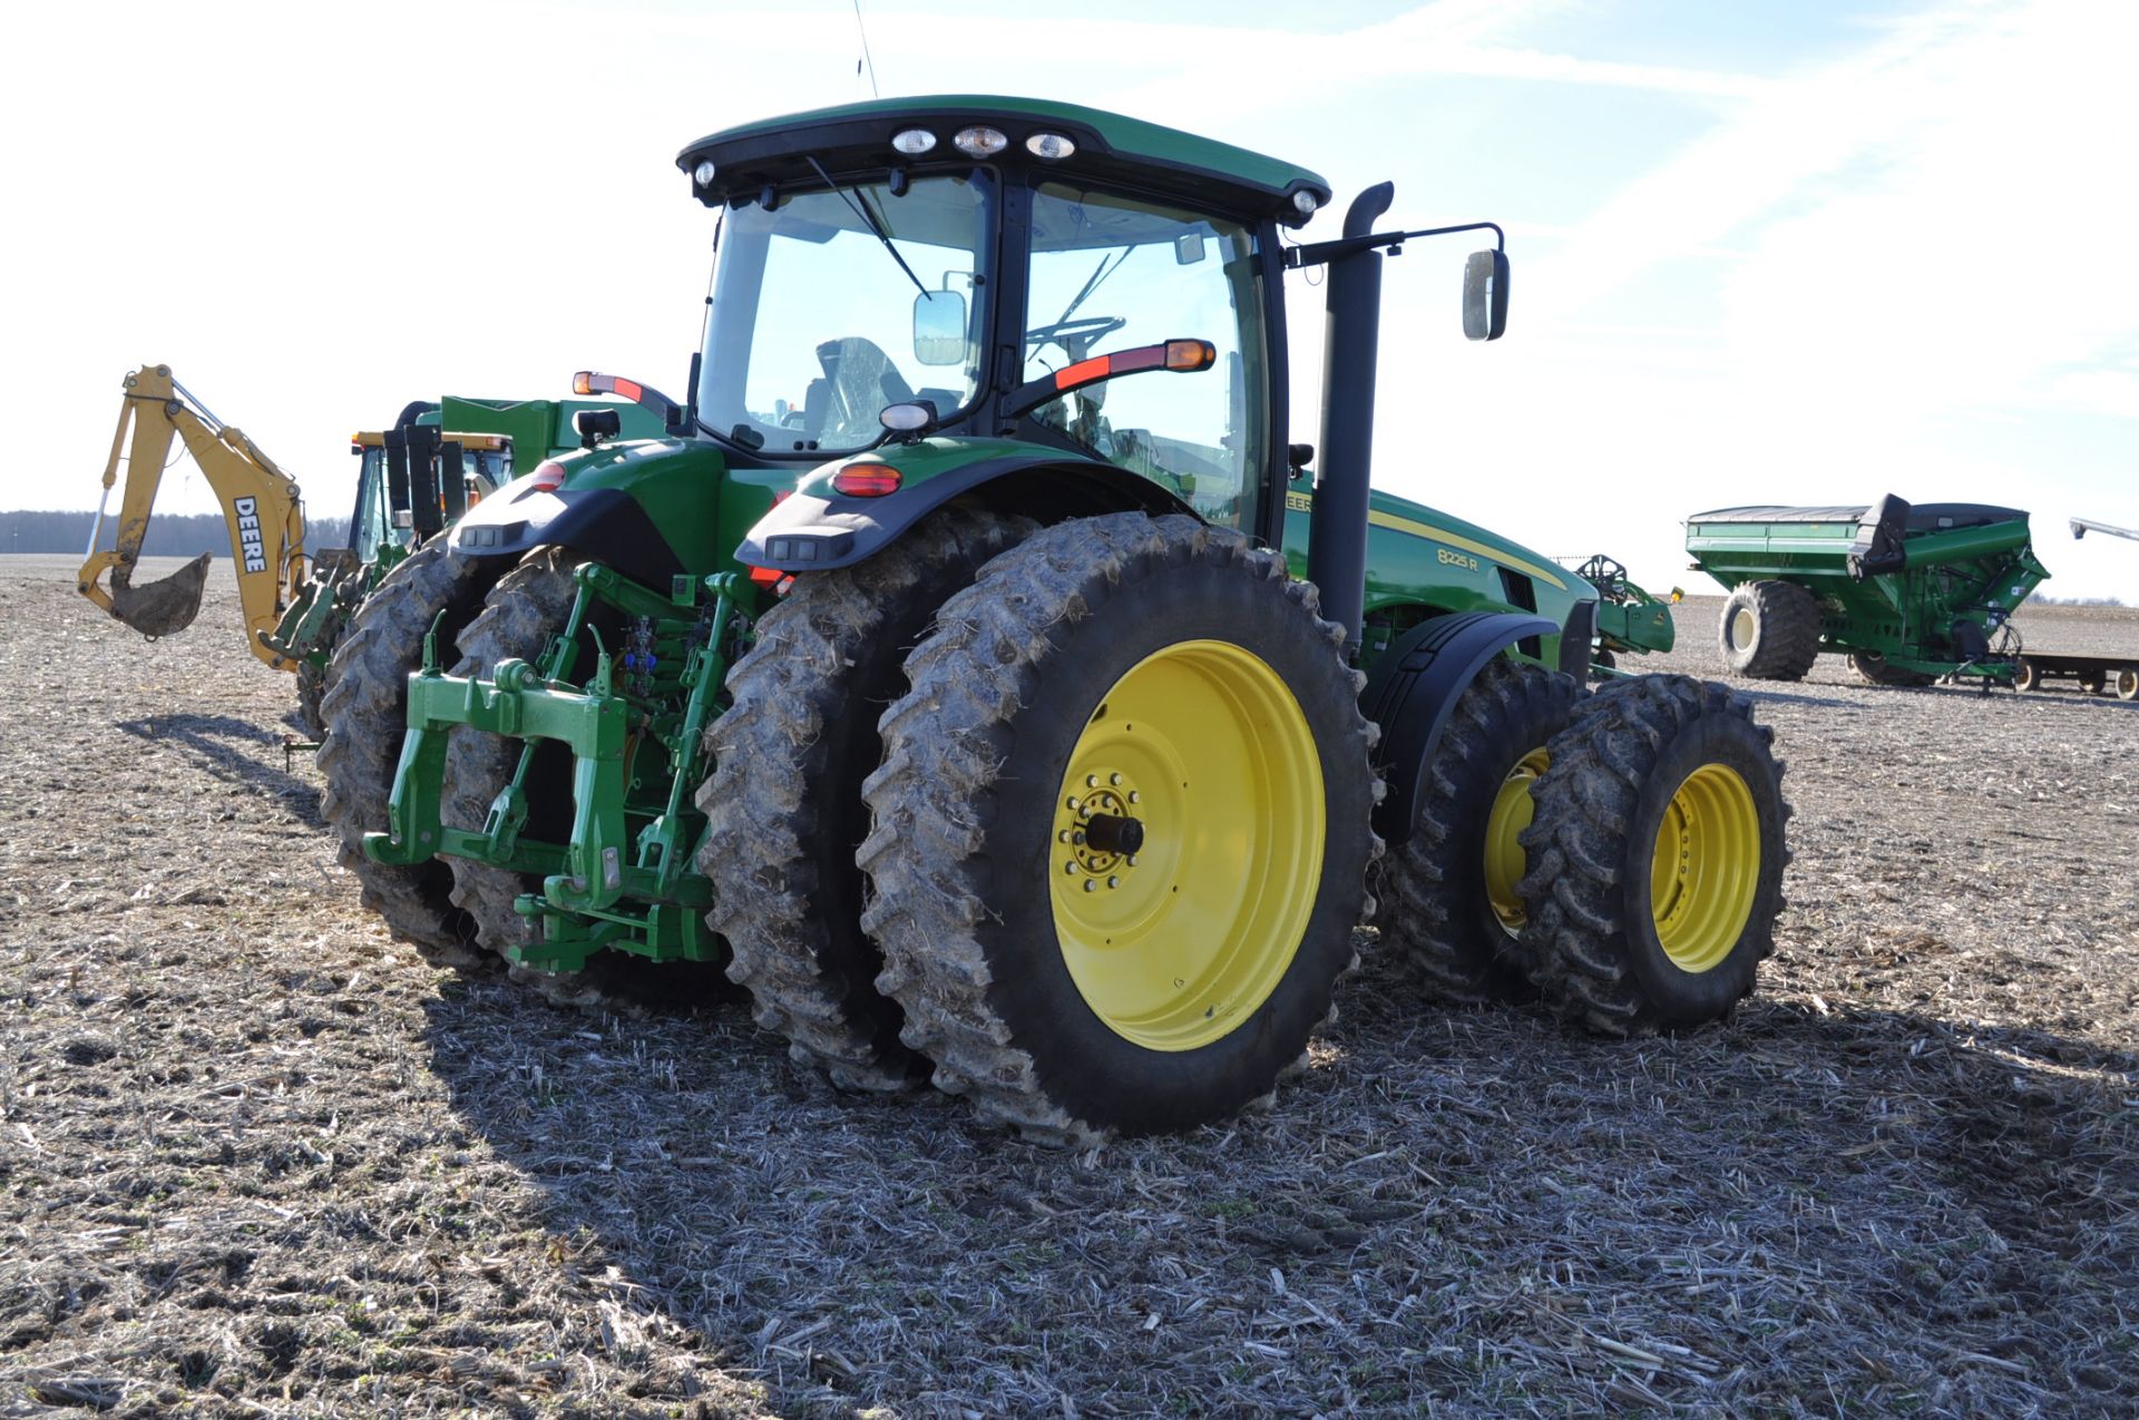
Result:
M1472 678L1523 637L1557 633L1551 620L1525 612L1461 612L1412 627L1382 652L1367 674L1360 708L1382 727L1375 768L1388 793L1373 806L1373 832L1384 843L1395 847L1412 836L1418 783ZM1581 646L1587 665L1589 642Z

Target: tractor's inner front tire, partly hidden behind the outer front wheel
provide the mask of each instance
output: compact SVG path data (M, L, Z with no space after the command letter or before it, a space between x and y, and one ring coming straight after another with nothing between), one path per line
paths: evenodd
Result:
M1412 836L1388 853L1373 924L1427 990L1457 1005L1534 994L1517 958L1527 917L1519 834L1546 742L1568 727L1581 686L1495 657L1463 689L1420 776Z

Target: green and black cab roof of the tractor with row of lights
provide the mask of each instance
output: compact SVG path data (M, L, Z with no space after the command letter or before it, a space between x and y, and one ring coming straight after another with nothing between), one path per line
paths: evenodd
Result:
M1309 216L1294 205L1296 192L1309 192L1315 207L1330 201L1330 186L1320 173L1266 154L1102 109L988 94L875 98L738 124L684 148L676 154L676 167L689 173L710 158L714 180L693 186L693 192L717 205L768 184L817 184L821 180L811 158L830 173L971 163L952 148L952 135L975 124L1010 139L1010 148L986 158L988 163L1061 171L1067 182L1119 182L1147 192L1155 188L1179 195L1185 205L1226 216L1275 218L1288 227L1298 227ZM937 145L922 156L896 152L892 135L907 128L926 128ZM1059 133L1076 143L1076 152L1055 163L1035 158L1025 148L1025 139L1035 133Z

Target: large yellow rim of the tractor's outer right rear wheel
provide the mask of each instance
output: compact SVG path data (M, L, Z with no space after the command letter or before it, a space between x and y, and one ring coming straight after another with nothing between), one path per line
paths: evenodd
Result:
M1313 729L1260 657L1157 650L1093 708L1048 838L1055 937L1084 1003L1149 1050L1209 1046L1277 990L1315 905Z

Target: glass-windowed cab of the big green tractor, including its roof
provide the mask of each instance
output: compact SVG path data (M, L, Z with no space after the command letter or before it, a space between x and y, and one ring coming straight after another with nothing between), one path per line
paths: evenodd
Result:
M1281 511L1277 229L1328 201L1315 173L1016 98L821 109L678 167L721 212L693 391L717 438L821 464L1007 436L1155 509Z

